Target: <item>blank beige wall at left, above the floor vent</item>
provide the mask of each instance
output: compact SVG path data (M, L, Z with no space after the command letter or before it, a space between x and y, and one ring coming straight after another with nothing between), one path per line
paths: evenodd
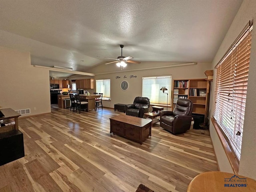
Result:
M0 106L30 108L29 115L48 113L49 84L49 70L32 66L30 53L0 47Z

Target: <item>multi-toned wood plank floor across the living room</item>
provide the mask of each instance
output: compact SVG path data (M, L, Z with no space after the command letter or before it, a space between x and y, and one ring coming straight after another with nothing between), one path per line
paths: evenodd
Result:
M216 171L208 130L174 136L154 124L142 145L110 134L106 109L19 118L25 157L0 166L0 192L185 192L196 175Z

